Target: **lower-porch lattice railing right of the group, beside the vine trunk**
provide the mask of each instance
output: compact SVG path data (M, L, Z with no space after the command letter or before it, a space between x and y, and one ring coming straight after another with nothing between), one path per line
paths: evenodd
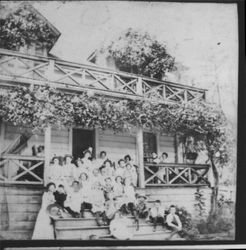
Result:
M209 165L145 163L145 186L210 185Z

